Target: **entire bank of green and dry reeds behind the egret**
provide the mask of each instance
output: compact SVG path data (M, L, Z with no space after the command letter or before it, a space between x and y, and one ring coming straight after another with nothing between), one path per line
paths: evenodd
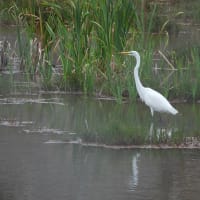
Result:
M142 57L141 79L170 99L200 98L199 47L169 50L173 20L161 5L149 1L21 1L8 13L18 25L21 69L39 77L46 89L85 94L137 96L135 61L122 50ZM23 34L22 34L23 32Z

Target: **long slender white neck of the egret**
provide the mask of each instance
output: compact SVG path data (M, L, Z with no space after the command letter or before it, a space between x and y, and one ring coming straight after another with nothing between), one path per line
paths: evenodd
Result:
M139 67L140 67L140 55L136 54L135 55L136 58L136 65L134 68L134 78L135 78L135 84L136 84L136 89L139 93L140 98L143 100L144 94L143 94L143 89L144 86L142 85L140 78L139 78Z

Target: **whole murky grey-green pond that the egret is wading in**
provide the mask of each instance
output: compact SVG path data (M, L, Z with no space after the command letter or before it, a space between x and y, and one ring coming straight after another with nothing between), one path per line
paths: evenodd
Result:
M0 41L14 47L15 30L1 28ZM38 90L14 51L10 61L0 74L0 199L199 199L199 103L152 118L141 102Z

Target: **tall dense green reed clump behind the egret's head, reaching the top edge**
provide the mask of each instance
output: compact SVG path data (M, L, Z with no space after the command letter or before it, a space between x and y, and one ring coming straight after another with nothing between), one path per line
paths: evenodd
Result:
M115 96L119 102L124 91L135 97L133 64L123 64L119 51L135 49L141 53L144 81L150 79L154 39L151 36L156 6L146 11L139 2L128 1L28 1L27 8L16 6L25 25L27 41L36 38L40 56L32 63L28 54L25 66L50 81L53 59L62 66L58 87ZM138 6L139 5L139 6ZM22 44L19 38L20 44ZM23 45L22 45L23 46ZM27 47L30 48L30 47ZM31 47L32 48L32 47ZM23 49L23 48L21 48ZM143 50L145 49L145 50ZM49 60L47 60L49 59ZM132 59L132 58L129 58ZM26 59L25 59L26 60ZM30 71L27 70L27 71ZM45 74L47 73L47 74ZM48 77L48 78L47 78Z

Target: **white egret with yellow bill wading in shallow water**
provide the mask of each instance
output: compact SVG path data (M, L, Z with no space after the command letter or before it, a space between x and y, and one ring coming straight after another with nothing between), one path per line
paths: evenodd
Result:
M157 112L166 112L173 115L176 115L178 111L169 103L169 101L159 92L144 87L140 81L138 70L140 67L140 55L137 51L128 51L128 52L121 52L121 54L126 54L130 56L134 56L136 58L136 65L134 68L134 78L137 92L141 98L141 100L149 106L151 110L151 115L153 116L154 111Z

